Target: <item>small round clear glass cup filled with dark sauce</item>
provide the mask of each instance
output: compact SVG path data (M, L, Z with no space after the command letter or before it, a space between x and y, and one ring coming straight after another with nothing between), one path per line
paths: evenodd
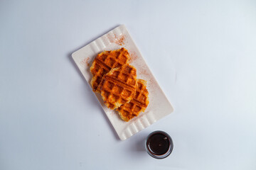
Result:
M151 157L164 159L171 154L174 144L166 132L157 130L146 137L145 147Z

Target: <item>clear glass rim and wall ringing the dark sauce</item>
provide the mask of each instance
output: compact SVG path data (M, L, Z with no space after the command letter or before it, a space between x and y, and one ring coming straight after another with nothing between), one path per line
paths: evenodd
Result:
M161 155L156 155L156 154L152 154L150 151L149 151L149 148L147 147L146 143L147 141L149 140L149 137L151 137L151 135L154 135L156 133L162 133L164 135L166 135L166 137L168 137L169 139L169 142L170 142L170 146L169 146L169 149L168 151L165 153L165 154L161 154ZM146 141L145 141L145 148L146 148L146 152L151 156L151 157L154 157L156 159L164 159L166 157L168 157L172 150L174 149L174 142L172 141L170 135L162 130L156 130L154 132L151 132L147 137L146 137Z

